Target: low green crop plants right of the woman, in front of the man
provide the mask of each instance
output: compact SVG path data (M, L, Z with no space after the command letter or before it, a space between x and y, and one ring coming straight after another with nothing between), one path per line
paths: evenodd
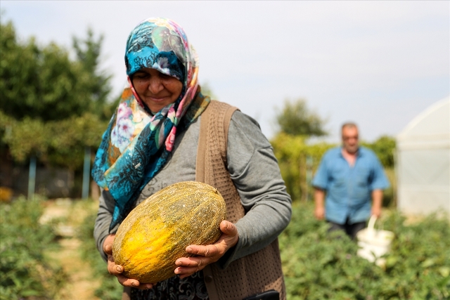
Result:
M383 227L396 238L380 268L346 235L328 233L311 204L297 204L279 238L288 299L450 299L449 225L430 216L406 226L389 214Z

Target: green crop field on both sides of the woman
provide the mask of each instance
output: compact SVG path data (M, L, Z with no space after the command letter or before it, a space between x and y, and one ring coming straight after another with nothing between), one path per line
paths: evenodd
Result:
M120 299L122 287L106 272L92 237L95 203L70 203L69 218L47 225L39 225L47 201L0 204L1 300L70 299L61 291L76 276L49 255L60 249L61 223L76 226L72 238L81 241L77 256L96 282L93 294ZM406 223L404 216L384 211L379 224L396 237L380 268L356 256L357 245L347 236L328 234L326 223L314 219L311 203L295 204L279 237L288 299L450 299L449 221L428 216Z

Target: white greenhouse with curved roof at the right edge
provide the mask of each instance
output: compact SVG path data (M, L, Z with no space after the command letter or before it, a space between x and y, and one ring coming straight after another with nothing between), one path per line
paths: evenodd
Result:
M396 168L400 211L450 216L450 97L428 107L397 136Z

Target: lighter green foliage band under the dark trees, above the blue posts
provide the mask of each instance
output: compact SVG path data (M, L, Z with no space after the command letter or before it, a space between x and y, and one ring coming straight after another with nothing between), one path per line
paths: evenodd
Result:
M83 163L84 147L96 148L105 126L91 113L43 122L30 117L18 121L0 111L0 129L4 129L1 141L8 145L16 162L37 155L41 163L77 169Z

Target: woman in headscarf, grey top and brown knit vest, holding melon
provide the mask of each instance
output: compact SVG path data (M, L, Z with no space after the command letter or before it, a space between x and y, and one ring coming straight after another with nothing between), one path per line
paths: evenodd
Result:
M290 196L258 124L203 96L197 55L172 20L141 22L129 35L125 63L129 87L92 171L102 188L94 236L124 299L244 299L269 289L285 299L276 237L290 221ZM111 253L120 223L158 190L195 180L226 200L219 240L188 246L195 257L177 259L164 282L125 278Z

